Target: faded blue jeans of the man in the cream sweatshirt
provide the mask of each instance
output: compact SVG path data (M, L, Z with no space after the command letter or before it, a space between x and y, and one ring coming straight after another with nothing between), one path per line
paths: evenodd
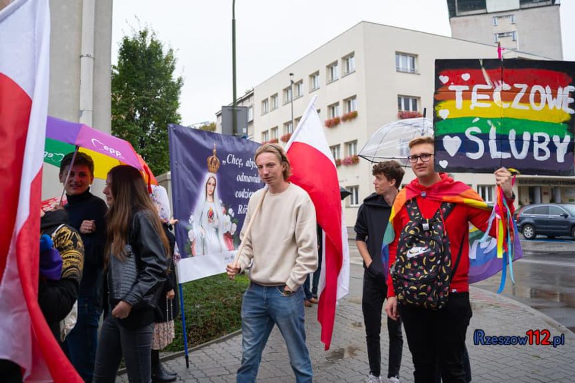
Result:
M274 324L286 342L296 382L312 381L312 362L305 345L304 292L283 293L283 286L250 283L241 303L241 366L237 382L255 382L259 362Z

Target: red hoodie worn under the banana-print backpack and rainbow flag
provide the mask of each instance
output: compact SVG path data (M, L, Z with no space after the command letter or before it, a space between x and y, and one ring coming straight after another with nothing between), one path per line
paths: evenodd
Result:
M446 173L439 173L441 180L437 183L427 187L421 185L418 179L411 181L409 187L415 188L421 192L425 191L428 194L437 192L438 189L442 189L445 192L450 188L451 185L455 185L456 181L453 178L447 176ZM440 202L431 200L429 198L425 199L421 195L416 196L417 207L423 215L423 218L432 218L435 212L438 211ZM515 211L513 207L513 199L507 199L507 206L511 209L511 214ZM461 240L463 239L463 248L461 250L461 260L459 260L459 265L457 270L455 270L455 275L451 280L450 288L452 292L466 292L469 291L469 223L473 223L477 229L481 231L487 230L488 220L491 212L488 210L481 210L479 208L471 207L467 204L457 204L451 214L447 216L445 222L445 228L449 238L449 245L451 249L451 262L452 265L455 264L457 260L457 254L459 253L459 246L461 245ZM393 230L395 231L395 239L389 245L389 267L393 265L396 260L397 255L397 242L399 241L401 230L409 222L409 216L407 214L407 208L403 206L401 210L393 218ZM492 237L496 235L496 228L492 226L490 232ZM391 274L388 270L388 298L395 296L395 291L393 289L393 283Z

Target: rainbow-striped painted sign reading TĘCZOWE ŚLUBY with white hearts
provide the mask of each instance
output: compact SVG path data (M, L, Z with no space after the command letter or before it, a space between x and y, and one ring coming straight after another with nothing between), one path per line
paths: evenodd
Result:
M435 61L435 169L573 176L575 62Z

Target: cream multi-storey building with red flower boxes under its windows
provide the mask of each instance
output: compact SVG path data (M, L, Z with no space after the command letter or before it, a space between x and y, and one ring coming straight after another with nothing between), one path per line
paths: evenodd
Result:
M427 108L431 117L435 59L477 57L496 58L496 46L359 22L254 88L253 103L248 105L253 108L250 135L254 141L285 145L310 99L317 95L316 108L339 164L340 185L352 193L343 206L346 225L353 226L359 205L373 192L371 164L356 157L366 140L386 123L410 114L406 112L422 113ZM507 57L543 59L519 51ZM493 202L493 176L454 176ZM413 177L407 168L404 183ZM524 178L516 186L518 201L567 201L573 196L575 202L575 181L573 189L558 184L565 182L559 177Z

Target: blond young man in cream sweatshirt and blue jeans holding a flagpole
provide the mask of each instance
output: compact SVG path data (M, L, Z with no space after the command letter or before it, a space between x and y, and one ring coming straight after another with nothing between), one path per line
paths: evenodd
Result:
M250 270L250 287L241 304L242 355L237 382L255 382L274 324L286 342L296 382L311 382L300 287L317 268L316 211L307 192L287 182L290 165L281 146L260 146L255 162L267 193L260 189L251 196L240 234L242 239L246 237L244 250L237 264L228 264L226 270L230 278ZM262 207L254 216L262 198ZM246 233L252 219L250 233Z

